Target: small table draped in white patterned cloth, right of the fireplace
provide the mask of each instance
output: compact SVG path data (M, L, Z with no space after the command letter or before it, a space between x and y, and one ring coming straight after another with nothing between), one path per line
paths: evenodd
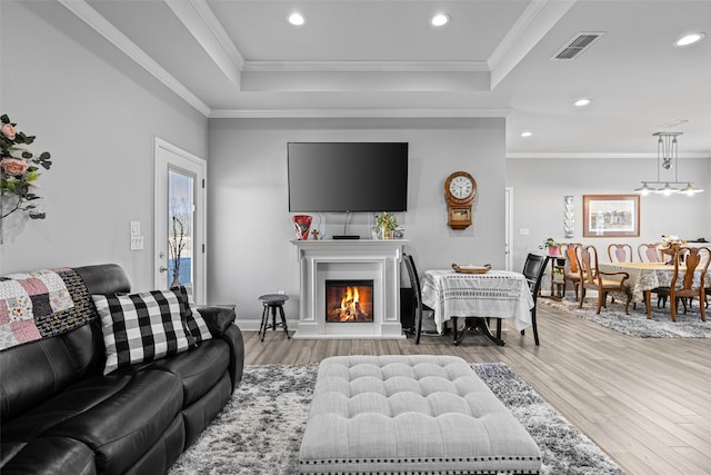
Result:
M500 331L493 336L489 318L513 318L520 331L531 326L533 296L523 274L490 269L468 274L453 269L429 269L422 277L422 303L434 310L437 330L444 333L447 321L453 319L454 344L459 345L467 330L478 330L495 345L503 346ZM457 319L465 325L458 336ZM499 326L500 328L500 326Z

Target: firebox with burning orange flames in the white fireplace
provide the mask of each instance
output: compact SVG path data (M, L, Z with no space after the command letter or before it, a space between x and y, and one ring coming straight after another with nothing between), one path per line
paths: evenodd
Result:
M373 321L372 280L327 280L326 321Z

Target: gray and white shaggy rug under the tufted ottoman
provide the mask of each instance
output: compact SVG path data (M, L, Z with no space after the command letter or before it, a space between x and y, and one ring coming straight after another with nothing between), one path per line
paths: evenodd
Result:
M505 364L472 367L533 436L543 454L543 474L621 473ZM169 475L297 474L317 372L317 366L247 366L232 399Z

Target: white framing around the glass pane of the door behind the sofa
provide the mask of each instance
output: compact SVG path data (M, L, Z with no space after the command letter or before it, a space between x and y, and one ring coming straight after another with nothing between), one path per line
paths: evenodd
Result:
M161 268L168 267L168 222L161 219L163 211L168 209L168 172L178 170L184 174L194 175L194 227L193 227L193 297L197 304L204 304L207 300L207 187L206 177L208 174L208 162L203 158L194 156L174 145L156 137L154 138L154 187L153 198L153 222L156 237L154 243L154 285L156 288L167 287L166 271ZM167 216L167 215L166 215Z

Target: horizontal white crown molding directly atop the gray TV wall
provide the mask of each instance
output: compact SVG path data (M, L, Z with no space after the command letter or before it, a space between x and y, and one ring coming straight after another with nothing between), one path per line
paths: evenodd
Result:
M211 119L502 118L511 109L213 109Z

